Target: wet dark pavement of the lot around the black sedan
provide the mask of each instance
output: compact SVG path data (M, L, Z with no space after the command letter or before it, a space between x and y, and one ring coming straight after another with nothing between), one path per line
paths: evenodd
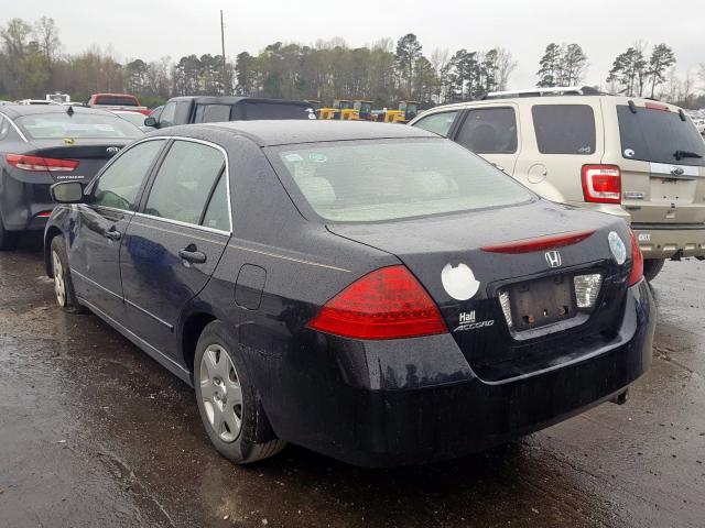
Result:
M705 262L654 280L654 361L627 405L420 468L292 446L238 468L187 386L95 316L58 310L39 245L0 254L2 528L705 526Z

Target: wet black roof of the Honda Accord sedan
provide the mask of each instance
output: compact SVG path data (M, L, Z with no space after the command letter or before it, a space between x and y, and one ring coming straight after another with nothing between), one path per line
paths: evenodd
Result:
M249 138L259 146L319 143L327 141L381 140L395 138L438 138L433 132L404 124L333 120L262 120L170 127L169 135L191 135L196 129L220 130ZM191 131L191 134L189 134ZM160 135L159 132L156 135Z

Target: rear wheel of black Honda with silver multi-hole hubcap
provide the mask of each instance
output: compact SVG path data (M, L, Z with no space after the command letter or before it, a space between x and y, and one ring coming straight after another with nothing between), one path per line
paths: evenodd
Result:
M198 338L194 387L208 438L226 459L249 464L286 444L272 431L241 349L220 321L210 322Z

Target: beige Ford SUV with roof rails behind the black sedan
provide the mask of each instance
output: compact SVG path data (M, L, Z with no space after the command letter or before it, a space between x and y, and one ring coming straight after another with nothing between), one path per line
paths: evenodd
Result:
M456 141L550 200L623 217L649 279L665 258L705 258L705 142L677 107L552 88L436 107L409 124Z

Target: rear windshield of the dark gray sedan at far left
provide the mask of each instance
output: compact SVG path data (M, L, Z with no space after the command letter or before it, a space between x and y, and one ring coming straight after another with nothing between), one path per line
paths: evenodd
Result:
M35 140L59 138L134 139L144 135L140 129L117 116L97 113L36 113L15 120Z

